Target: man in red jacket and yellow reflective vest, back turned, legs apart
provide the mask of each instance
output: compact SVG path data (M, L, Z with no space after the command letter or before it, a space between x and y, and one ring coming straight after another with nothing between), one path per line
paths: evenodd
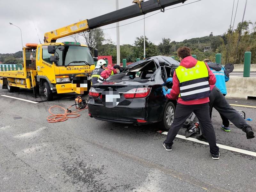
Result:
M198 61L191 56L188 47L180 47L178 56L180 66L175 69L173 78L168 78L168 81L173 83L170 93L167 93L163 87L166 98L172 100L178 98L175 117L163 146L167 151L172 150L173 140L180 127L194 112L200 122L202 133L205 133L204 137L209 142L212 159L219 159L220 153L216 145L208 104L210 85L215 84L216 78L204 61Z

